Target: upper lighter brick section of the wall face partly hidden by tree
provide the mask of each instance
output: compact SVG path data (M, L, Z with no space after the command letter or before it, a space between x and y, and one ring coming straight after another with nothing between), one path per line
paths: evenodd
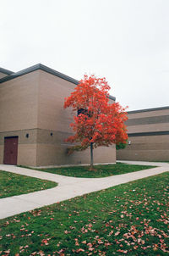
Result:
M65 131L73 120L71 109L63 109L64 98L74 91L73 83L40 70L38 128Z

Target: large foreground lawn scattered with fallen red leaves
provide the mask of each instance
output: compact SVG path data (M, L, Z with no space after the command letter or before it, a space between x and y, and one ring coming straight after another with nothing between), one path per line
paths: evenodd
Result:
M168 184L166 172L0 220L0 252L167 255Z

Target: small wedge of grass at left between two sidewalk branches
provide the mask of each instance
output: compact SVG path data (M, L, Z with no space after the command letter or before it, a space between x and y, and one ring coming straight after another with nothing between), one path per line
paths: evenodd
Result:
M35 192L53 186L57 186L57 183L0 170L0 198Z

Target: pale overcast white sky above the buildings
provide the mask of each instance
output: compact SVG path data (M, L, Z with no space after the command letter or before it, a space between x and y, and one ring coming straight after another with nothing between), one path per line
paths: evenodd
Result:
M0 0L0 67L106 77L128 110L169 105L169 0Z

